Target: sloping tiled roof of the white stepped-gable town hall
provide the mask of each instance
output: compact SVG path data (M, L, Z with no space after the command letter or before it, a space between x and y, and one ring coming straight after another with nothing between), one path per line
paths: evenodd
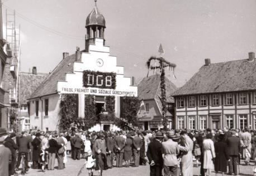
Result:
M65 57L53 72L33 92L30 99L57 93L58 81L65 81L66 73L73 73L75 54Z

